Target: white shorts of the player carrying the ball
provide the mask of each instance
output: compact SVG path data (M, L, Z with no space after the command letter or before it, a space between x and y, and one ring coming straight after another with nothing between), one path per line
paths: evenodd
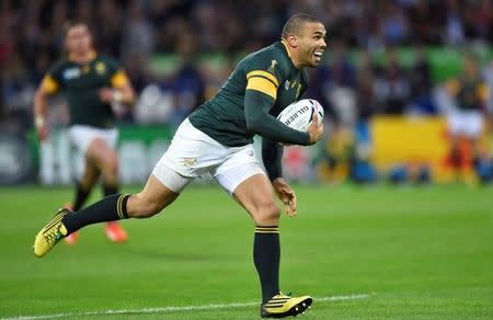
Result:
M188 118L180 125L152 171L162 184L177 193L194 178L210 174L230 195L257 173L265 174L252 144L223 146L195 128Z

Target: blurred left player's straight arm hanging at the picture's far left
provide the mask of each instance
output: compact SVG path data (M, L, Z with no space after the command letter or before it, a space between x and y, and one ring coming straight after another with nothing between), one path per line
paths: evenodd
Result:
M34 94L34 125L39 140L48 137L46 124L47 100L59 89L59 83L50 73L46 73Z

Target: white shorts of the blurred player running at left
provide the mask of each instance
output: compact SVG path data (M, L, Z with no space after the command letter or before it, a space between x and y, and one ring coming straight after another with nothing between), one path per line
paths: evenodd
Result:
M112 148L116 147L118 140L118 130L100 129L84 125L73 125L68 129L68 137L70 142L83 155L88 151L89 145L95 138L101 138L106 141Z

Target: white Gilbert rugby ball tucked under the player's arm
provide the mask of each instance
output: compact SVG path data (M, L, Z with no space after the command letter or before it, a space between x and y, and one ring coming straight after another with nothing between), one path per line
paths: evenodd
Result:
M314 113L319 114L319 122L323 119L323 107L317 100L302 99L286 106L277 116L277 119L290 128L307 132Z

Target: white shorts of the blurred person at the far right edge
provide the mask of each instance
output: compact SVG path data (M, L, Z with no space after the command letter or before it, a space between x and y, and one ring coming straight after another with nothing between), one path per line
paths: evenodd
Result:
M456 111L447 117L448 128L454 136L478 138L483 130L483 118L477 111Z

